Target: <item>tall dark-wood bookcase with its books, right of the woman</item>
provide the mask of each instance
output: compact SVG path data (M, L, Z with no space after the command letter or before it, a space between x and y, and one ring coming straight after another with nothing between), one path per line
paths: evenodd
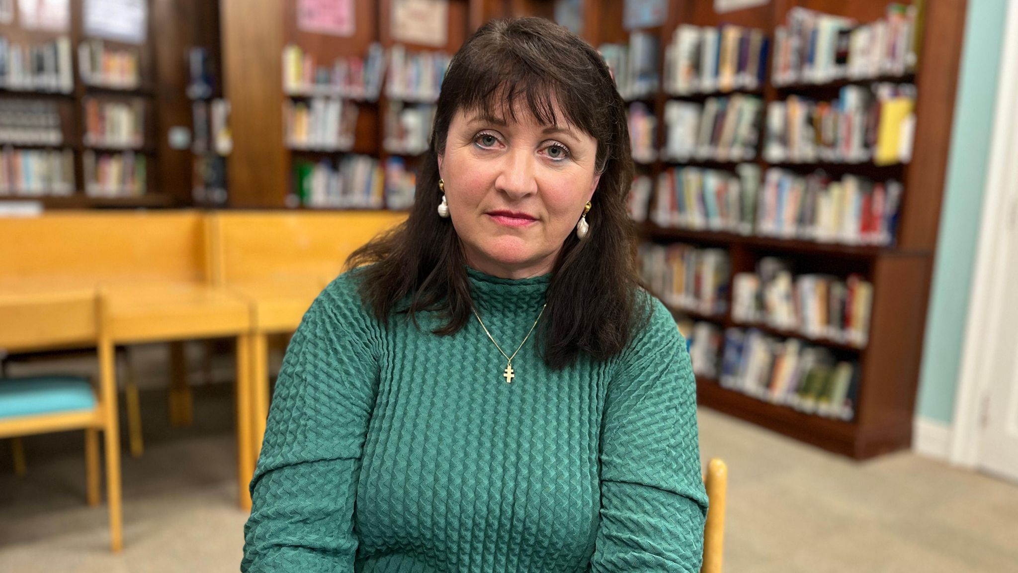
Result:
M924 39L958 38L964 2L632 4L671 12L661 67L606 58L623 94L663 79L630 108L629 209L700 403L854 458L908 448L959 56Z

